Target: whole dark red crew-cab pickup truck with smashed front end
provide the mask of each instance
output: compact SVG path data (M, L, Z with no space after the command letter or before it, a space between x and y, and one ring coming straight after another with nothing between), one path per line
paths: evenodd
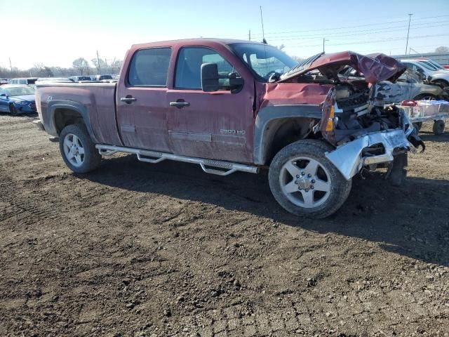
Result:
M342 81L345 66L366 81ZM401 183L407 153L422 144L375 82L406 70L386 55L314 55L297 64L248 41L190 39L130 48L116 84L41 83L41 129L60 140L69 169L97 169L103 155L136 154L199 164L206 173L257 173L290 213L337 211L362 170L387 167Z

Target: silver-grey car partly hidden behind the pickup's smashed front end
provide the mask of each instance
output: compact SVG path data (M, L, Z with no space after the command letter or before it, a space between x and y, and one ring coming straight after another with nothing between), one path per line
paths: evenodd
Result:
M347 81L364 81L363 74L349 67L340 73ZM396 82L380 81L376 84L376 98L384 103L400 103L403 100L449 100L449 93L437 84L423 81L422 76L407 69Z

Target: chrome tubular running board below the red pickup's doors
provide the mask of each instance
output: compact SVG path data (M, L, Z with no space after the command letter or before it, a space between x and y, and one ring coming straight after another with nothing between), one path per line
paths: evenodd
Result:
M259 173L259 168L257 166L250 166L244 164L231 163L229 161L217 161L213 159L195 158L195 157L185 157L177 154L156 152L149 150L134 149L132 147L121 147L115 145L102 145L97 144L95 147L102 156L109 156L116 152L125 152L130 154L135 154L140 161L145 161L146 163L156 164L163 160L169 159L174 161L183 161L185 163L199 164L201 169L206 173L216 174L218 176L228 176L236 171L248 172L248 173ZM218 169L208 168L214 167ZM222 169L222 170L220 170ZM224 170L224 171L223 171Z

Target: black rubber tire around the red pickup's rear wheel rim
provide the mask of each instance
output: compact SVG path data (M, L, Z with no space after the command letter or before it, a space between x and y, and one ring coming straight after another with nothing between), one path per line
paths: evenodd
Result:
M73 140L73 136L78 138L78 144L81 143L81 147L84 152L81 155L82 161L81 164L78 164L79 166L73 164L65 152L65 139L66 137L67 139L72 137ZM65 164L69 167L69 169L74 171L74 173L88 173L98 169L98 166L101 164L101 155L95 148L95 144L93 143L91 136L89 136L87 128L84 124L71 124L63 128L59 136L59 149Z

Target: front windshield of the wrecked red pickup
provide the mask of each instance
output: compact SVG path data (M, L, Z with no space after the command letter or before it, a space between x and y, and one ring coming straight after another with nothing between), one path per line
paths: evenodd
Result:
M260 81L267 82L275 72L283 74L297 62L274 46L264 44L229 44Z

